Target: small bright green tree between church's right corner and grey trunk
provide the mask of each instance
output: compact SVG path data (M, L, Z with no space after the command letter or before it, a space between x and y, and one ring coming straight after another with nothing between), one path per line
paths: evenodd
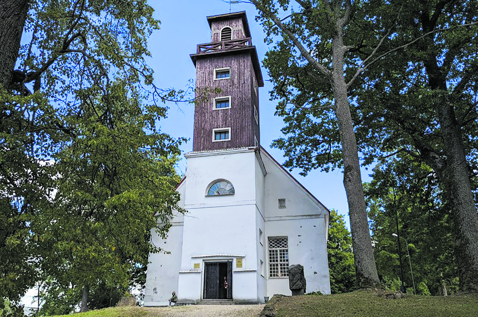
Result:
M330 292L350 292L355 286L352 238L345 227L344 216L330 211L327 237L327 257L330 276Z

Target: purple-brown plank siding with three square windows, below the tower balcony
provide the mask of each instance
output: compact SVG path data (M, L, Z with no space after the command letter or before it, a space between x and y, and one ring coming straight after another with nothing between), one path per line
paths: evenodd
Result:
M230 67L229 79L214 80L214 69ZM259 98L255 95L254 71L250 53L209 55L196 62L196 103L194 116L193 151L211 151L254 146L254 134L258 141L259 125L254 119L253 102L259 111ZM201 98L205 88L222 89L219 94ZM231 96L231 107L214 110L214 98ZM213 142L214 128L231 127L231 140Z

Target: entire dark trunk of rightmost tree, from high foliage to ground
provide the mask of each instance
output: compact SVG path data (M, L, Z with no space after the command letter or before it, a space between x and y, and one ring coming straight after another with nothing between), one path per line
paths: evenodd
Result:
M439 10L443 10L443 8ZM436 21L436 19L428 19L426 14L422 16L424 32L433 30L436 26ZM429 37L428 46L431 48L435 47L433 36ZM448 51L448 54L454 53L454 50ZM459 290L460 292L478 292L477 209L470 186L461 123L456 120L453 102L448 100L446 96L448 94L446 74L450 72L450 69L444 69L443 65L439 66L439 58L437 56L429 56L424 61L424 66L430 88L442 92L435 99L435 106L445 148L446 164L445 169L441 173L439 172L438 175L453 209ZM446 56L446 58L449 57Z

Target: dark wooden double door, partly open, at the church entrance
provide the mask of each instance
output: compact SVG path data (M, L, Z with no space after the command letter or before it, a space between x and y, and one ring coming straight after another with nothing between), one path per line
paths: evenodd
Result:
M232 262L206 262L204 299L232 299Z

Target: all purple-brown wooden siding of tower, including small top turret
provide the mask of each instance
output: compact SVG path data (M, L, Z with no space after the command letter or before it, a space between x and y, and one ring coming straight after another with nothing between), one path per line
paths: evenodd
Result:
M213 151L253 147L260 142L258 87L264 85L256 47L250 39L246 12L207 17L211 27L211 43L197 45L191 59L196 65L196 104L194 114L193 151ZM231 40L219 41L224 27L232 30ZM230 68L229 79L214 80L214 69ZM204 90L221 88L218 94L201 95ZM230 96L230 108L214 109L214 98ZM213 142L213 129L230 127L230 140ZM257 139L257 144L256 140Z

